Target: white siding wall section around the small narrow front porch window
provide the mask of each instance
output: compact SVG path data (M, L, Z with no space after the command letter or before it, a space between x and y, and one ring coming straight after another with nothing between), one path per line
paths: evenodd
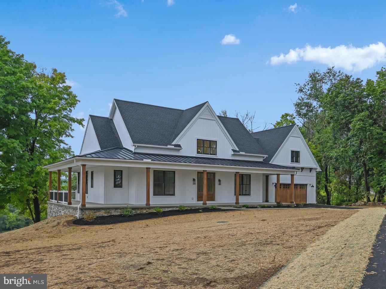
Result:
M114 188L114 170L122 170L122 188ZM129 167L105 166L105 204L129 203Z

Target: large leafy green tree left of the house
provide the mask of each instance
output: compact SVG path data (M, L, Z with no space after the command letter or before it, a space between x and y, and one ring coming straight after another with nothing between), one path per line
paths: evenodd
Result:
M4 118L10 119L0 132L2 184L8 201L39 222L47 200L48 172L42 166L73 155L64 138L72 137L73 124L83 126L84 120L71 116L79 100L66 85L63 72L36 72L33 64L8 49L9 42L4 38L1 41L2 55L16 57L20 67L29 67L29 74L19 76L15 72L28 85L15 87L12 92L12 80L0 83L0 103L6 103L8 109ZM9 69L8 62L1 60L3 69Z

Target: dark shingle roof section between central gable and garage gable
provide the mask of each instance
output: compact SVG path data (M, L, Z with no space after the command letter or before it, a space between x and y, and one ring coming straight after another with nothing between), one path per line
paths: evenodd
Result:
M252 137L252 134L245 128L238 118L227 118L217 116L224 128L233 139L239 151L244 153L253 153L257 155L266 155L264 148Z

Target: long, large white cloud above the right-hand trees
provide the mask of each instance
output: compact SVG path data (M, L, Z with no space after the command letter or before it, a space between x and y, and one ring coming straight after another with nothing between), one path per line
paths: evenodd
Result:
M312 47L290 49L288 54L281 53L269 60L272 65L293 64L300 60L313 61L328 66L343 68L347 71L362 71L377 62L386 61L386 47L382 42L364 47L339 45L337 47Z

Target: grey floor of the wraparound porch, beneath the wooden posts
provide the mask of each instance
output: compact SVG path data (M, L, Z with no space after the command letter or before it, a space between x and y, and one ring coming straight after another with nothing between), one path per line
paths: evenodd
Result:
M80 201L71 201L71 205L63 204L68 207L74 207L77 208L80 204ZM240 203L240 205L235 205L235 203L216 203L216 202L208 202L207 205L202 205L202 203L192 203L192 204L150 204L150 208L174 208L178 207L179 205L184 205L186 207L210 207L215 205L216 207L234 207L234 206L242 206L243 204L248 204L250 206L260 206L260 205L266 205L266 206L276 206L276 203ZM283 205L293 205L293 204L287 204L283 203ZM104 209L117 209L117 208L149 208L146 207L145 204L143 205L134 205L134 204L100 204L100 203L90 203L86 202L86 208L83 209L98 209L98 208L104 208Z

